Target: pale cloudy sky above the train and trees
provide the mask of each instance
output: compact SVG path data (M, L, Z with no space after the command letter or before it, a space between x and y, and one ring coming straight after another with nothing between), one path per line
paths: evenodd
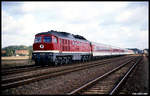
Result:
M2 2L2 48L49 30L121 48L148 48L148 2Z

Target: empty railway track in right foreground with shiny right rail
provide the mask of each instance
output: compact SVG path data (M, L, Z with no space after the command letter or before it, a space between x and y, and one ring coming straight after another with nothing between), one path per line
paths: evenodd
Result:
M127 76L131 73L134 67L142 60L141 57L128 60L117 68L105 73L102 76L84 84L83 86L67 93L73 94L117 94L120 86L126 80ZM125 67L127 66L127 67ZM127 71L128 70L128 71ZM120 76L120 74L122 76ZM124 75L125 74L125 75ZM117 79L119 78L119 81ZM114 86L115 85L115 86Z

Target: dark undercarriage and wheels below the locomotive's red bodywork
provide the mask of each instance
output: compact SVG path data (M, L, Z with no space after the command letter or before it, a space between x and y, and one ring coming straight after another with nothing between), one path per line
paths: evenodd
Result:
M40 62L41 64L46 61L45 64L47 65L62 65L62 64L68 64L71 63L72 61L80 61L82 60L83 62L88 61L91 56L91 54L88 53L75 53L75 52L61 52L61 53L54 53L54 52L33 52L32 58L36 62ZM37 63L37 64L38 64Z

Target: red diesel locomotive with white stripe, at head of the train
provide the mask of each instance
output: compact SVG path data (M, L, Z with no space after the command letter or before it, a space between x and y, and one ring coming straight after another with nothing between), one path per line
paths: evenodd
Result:
M32 59L37 65L57 65L90 58L90 42L80 35L53 30L35 35Z

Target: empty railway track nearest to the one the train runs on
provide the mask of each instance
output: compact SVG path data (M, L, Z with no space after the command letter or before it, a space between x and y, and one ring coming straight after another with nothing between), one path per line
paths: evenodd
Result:
M124 57L124 59L125 58L129 59L129 57ZM133 57L130 57L130 59L131 58L133 58ZM94 67L94 66L100 66L100 65L103 65L103 64L107 64L107 63L114 62L114 61L119 61L119 60L121 60L121 58L115 58L113 60L112 59L103 60L103 62L102 61L101 62L94 61L95 63L92 62L92 64L91 64L91 62L88 62L87 64L80 64L80 65L64 68L64 69L53 71L53 72L51 71L51 72L44 72L44 73L35 74L35 75L27 75L27 76L20 76L20 77L3 79L1 81L2 90L9 89L9 88L14 88L14 87L17 87L17 86L20 86L20 85L29 84L29 83L32 83L32 82L36 82L36 81L39 81L39 80L43 80L43 79L47 79L47 78L67 74L67 73L78 71L78 70L83 70L83 69L86 69L86 68L91 68L91 67Z

